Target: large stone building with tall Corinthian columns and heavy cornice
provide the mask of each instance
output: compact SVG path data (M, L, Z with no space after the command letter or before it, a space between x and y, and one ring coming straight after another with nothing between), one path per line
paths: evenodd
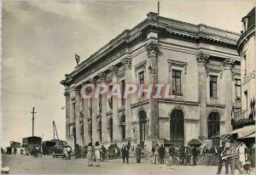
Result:
M100 48L61 81L67 143L96 141L151 150L155 143L187 144L232 130L241 110L240 35L150 12L146 20ZM171 84L170 98L82 99L86 83Z

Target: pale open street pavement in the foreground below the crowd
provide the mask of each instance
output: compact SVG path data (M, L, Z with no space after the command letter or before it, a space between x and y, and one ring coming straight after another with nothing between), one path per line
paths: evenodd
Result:
M29 155L3 155L2 161L3 167L9 167L11 174L215 174L217 172L217 167L214 166L167 167L166 165L152 165L149 160L145 159L141 164L137 164L134 158L130 159L129 165L123 164L121 159L115 159L102 162L101 167L87 167L86 159L66 161L49 155L36 159Z

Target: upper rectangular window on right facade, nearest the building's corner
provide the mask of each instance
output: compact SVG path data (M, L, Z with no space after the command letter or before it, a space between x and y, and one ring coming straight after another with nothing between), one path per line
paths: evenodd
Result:
M172 94L174 95L182 95L181 73L182 71L172 70Z

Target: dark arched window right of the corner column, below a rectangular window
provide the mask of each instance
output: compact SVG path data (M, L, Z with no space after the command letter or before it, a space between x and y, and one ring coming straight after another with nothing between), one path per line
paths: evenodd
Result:
M182 110L173 110L170 120L171 142L184 144L184 116Z

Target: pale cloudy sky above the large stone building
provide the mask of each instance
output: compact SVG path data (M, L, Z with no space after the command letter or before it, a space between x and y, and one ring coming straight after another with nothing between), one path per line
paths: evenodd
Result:
M157 1L3 1L2 145L32 136L65 138L64 75L125 29L157 12ZM253 0L160 0L160 16L241 31Z

